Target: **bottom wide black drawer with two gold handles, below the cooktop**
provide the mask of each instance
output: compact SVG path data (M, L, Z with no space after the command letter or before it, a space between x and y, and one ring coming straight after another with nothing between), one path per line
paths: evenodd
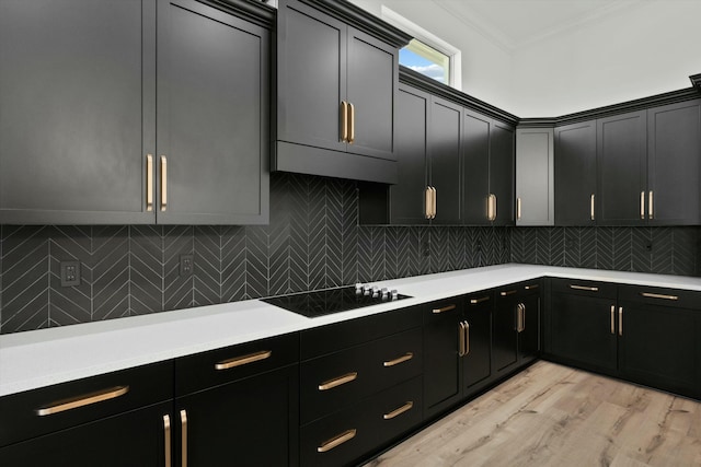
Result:
M422 421L416 377L301 428L300 465L354 464Z

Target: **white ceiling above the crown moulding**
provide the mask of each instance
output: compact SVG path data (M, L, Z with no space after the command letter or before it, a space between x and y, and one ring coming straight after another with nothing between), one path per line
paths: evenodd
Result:
M641 5L645 0L430 0L507 51Z

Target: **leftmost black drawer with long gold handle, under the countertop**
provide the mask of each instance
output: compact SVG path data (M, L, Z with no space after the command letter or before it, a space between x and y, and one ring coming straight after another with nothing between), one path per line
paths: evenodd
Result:
M172 361L0 398L0 446L171 399Z

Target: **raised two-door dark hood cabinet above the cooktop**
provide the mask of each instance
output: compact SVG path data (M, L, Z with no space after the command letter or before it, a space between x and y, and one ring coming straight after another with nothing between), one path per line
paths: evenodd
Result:
M280 0L273 170L395 183L399 47L410 38L345 1Z

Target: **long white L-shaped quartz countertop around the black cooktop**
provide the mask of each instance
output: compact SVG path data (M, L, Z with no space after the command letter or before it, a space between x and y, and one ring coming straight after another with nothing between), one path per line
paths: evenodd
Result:
M307 318L258 300L0 336L0 396L540 277L701 291L701 278L499 265L377 281L412 299Z

